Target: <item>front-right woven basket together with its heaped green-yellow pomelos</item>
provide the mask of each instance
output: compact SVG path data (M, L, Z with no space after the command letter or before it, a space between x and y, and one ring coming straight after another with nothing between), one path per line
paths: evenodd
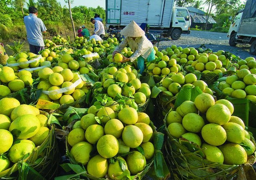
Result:
M187 94L187 95L186 95ZM255 141L225 99L181 90L166 115L166 159L175 179L255 179Z

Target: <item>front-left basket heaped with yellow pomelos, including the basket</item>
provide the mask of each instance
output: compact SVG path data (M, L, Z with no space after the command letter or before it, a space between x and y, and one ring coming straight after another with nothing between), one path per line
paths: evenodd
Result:
M15 98L2 98L0 106L0 177L53 179L59 165L54 117Z

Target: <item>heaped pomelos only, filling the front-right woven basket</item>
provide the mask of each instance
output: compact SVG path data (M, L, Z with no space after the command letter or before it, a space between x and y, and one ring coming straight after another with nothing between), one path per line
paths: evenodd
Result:
M201 148L204 158L214 163L241 165L255 152L255 144L242 119L232 116L228 100L214 101L201 93L194 102L184 101L166 115L171 136L183 144L184 138Z

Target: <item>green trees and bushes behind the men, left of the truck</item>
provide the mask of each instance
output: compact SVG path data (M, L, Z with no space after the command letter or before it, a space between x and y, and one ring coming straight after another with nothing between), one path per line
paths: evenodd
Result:
M47 33L45 36L69 35L72 31L69 17L68 4L63 7L57 0L0 0L0 41L14 39L26 39L26 28L23 22L23 14L28 15L28 7L35 6L38 9L38 17L43 20ZM72 16L76 30L79 26L93 31L94 25L90 19L97 13L105 21L105 10L97 8L76 6L72 8Z

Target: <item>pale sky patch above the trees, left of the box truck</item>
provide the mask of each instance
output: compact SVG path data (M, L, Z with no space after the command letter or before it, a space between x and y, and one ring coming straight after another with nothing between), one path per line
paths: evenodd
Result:
M64 0L57 0L57 2L61 3L61 6L63 7L64 5L66 5L68 7L68 4L65 3ZM75 7L75 6L86 6L86 7L93 7L93 8L97 8L98 6L106 9L106 1L105 0L73 0L73 3L71 4L71 7Z

